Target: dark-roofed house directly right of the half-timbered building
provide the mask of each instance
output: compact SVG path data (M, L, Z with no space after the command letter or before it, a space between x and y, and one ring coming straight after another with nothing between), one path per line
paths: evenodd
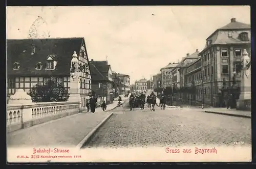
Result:
M92 67L92 90L96 93L96 97L103 97L107 104L113 102L113 75L111 65L108 61L90 61ZM102 99L101 99L102 100Z

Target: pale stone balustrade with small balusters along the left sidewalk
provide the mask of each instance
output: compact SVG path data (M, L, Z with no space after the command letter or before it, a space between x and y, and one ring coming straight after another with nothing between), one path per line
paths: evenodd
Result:
M6 111L7 131L30 127L78 112L78 102L8 104Z

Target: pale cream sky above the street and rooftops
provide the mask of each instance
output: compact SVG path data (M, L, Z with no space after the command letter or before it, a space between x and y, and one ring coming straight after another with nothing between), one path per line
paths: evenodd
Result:
M152 75L186 53L231 18L250 24L249 6L7 7L7 39L84 37L89 60L108 60L131 83ZM108 57L107 57L108 56Z

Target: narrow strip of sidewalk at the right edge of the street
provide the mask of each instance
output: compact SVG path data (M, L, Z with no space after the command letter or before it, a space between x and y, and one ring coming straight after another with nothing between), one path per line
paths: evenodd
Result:
M204 112L227 115L227 116L251 118L251 111L243 111L243 110L237 110L237 109L204 108Z

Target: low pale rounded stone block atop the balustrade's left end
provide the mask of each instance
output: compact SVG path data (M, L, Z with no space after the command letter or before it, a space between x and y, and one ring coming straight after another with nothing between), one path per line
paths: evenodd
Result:
M10 96L8 104L32 104L32 99L23 89L18 89L14 95Z

